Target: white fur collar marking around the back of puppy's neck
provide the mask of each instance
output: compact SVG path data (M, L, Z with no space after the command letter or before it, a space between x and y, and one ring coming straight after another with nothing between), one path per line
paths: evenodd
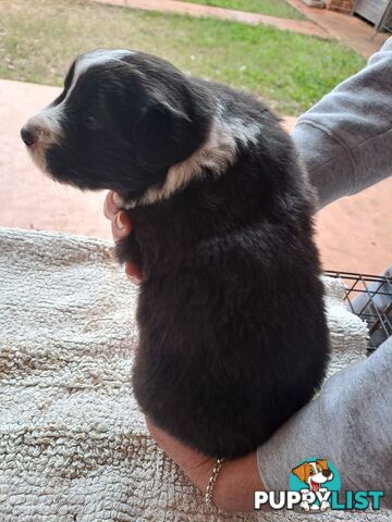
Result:
M240 117L231 116L225 112L224 105L218 105L207 141L189 158L173 165L163 185L149 187L139 199L125 202L124 207L132 209L169 199L193 179L201 178L205 169L219 176L234 162L238 144L256 144L260 132L258 123L246 123Z

